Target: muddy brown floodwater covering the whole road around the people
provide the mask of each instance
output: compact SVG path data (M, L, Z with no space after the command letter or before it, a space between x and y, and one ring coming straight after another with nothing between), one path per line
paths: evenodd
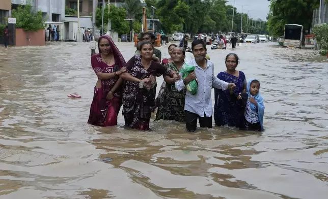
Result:
M121 113L116 127L91 126L88 44L0 49L0 198L326 198L328 63L272 45L233 51L261 82L262 134L165 121L141 132L121 127ZM126 60L132 46L118 44ZM208 48L225 71L232 51Z

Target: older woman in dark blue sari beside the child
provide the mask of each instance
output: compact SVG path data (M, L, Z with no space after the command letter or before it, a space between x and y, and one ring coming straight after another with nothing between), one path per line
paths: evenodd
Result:
M218 79L228 83L235 83L236 88L233 91L214 89L214 121L216 126L228 125L241 128L244 127L244 123L242 122L244 115L242 103L231 100L230 97L230 92L236 94L246 92L246 77L243 72L236 70L238 63L238 55L235 53L228 54L226 56L227 70L217 75Z

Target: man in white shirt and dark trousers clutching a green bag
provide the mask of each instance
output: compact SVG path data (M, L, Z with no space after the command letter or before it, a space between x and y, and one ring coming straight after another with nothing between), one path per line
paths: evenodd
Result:
M205 58L206 44L202 40L195 40L192 43L192 49L195 59L188 62L188 65L194 65L195 71L190 73L184 80L176 82L176 87L180 91L185 88L190 81L198 81L198 91L195 95L188 91L185 96L184 113L186 128L189 132L194 132L197 127L197 119L201 127L212 128L212 87L218 89L234 89L234 83L227 83L214 76L214 64ZM180 74L182 77L182 74Z

